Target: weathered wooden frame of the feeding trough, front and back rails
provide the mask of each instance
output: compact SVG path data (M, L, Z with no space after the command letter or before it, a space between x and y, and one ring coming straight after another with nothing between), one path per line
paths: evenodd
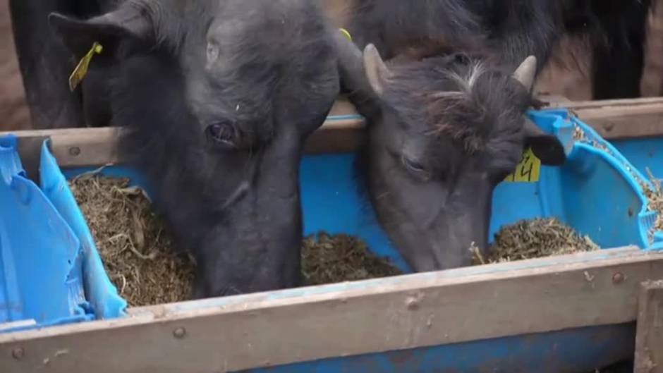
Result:
M571 109L608 140L663 136L660 98L554 99L552 106ZM307 152L357 149L363 122L352 106L341 100L332 114L334 120L310 138ZM47 138L64 168L121 162L114 128L17 135L29 174ZM499 366L510 367L508 372L532 372L533 366L549 372L549 359L557 355L537 353L537 338L549 336L559 341L554 348L568 353L577 348L564 346L568 336L584 333L597 344L625 336L631 343L627 348L635 346L635 371L656 373L663 372L662 280L663 252L619 247L138 307L122 319L0 334L0 372L310 372L305 364L316 360L328 362L316 372L439 372L445 371L439 370L444 359L464 372L459 359L472 356L452 356L454 346L474 346L473 358L482 360L483 341L516 337L530 343L531 361ZM450 349L436 350L445 346ZM451 355L436 360L430 357L436 351L438 357ZM473 371L494 372L497 366L495 360L482 360ZM557 372L573 367L571 361Z

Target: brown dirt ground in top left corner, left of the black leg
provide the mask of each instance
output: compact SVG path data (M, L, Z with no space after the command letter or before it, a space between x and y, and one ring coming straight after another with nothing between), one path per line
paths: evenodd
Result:
M30 112L18 71L8 0L0 0L0 131L28 128Z

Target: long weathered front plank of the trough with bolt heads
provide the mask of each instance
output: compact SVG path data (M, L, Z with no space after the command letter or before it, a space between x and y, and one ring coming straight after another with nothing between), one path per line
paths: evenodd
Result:
M635 248L146 307L0 335L3 372L228 372L633 322L663 252ZM20 358L13 357L18 352Z

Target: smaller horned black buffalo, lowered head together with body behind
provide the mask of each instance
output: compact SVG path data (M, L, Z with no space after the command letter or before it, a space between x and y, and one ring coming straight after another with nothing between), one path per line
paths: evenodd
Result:
M564 162L559 141L523 116L535 103L533 80L559 38L571 34L597 48L619 48L614 35L637 23L631 14L609 25L615 9L600 1L326 0L324 6L357 46L336 38L343 85L368 122L361 158L371 202L416 271L467 265L471 245L485 250L492 191L523 149L532 147L543 164ZM647 7L621 4L637 14ZM610 62L597 63L596 71Z

